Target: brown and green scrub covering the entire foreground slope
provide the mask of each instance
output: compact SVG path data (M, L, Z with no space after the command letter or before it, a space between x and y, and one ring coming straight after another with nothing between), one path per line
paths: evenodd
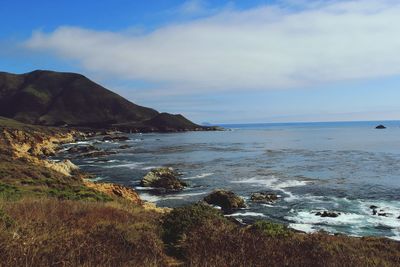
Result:
M400 266L400 242L243 226L207 204L161 214L10 149L0 140L0 266Z

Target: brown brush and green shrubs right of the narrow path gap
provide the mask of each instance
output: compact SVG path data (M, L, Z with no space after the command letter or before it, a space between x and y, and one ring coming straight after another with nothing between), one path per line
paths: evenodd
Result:
M400 266L396 241L303 234L266 221L241 227L202 205L168 214L164 233L188 266Z

